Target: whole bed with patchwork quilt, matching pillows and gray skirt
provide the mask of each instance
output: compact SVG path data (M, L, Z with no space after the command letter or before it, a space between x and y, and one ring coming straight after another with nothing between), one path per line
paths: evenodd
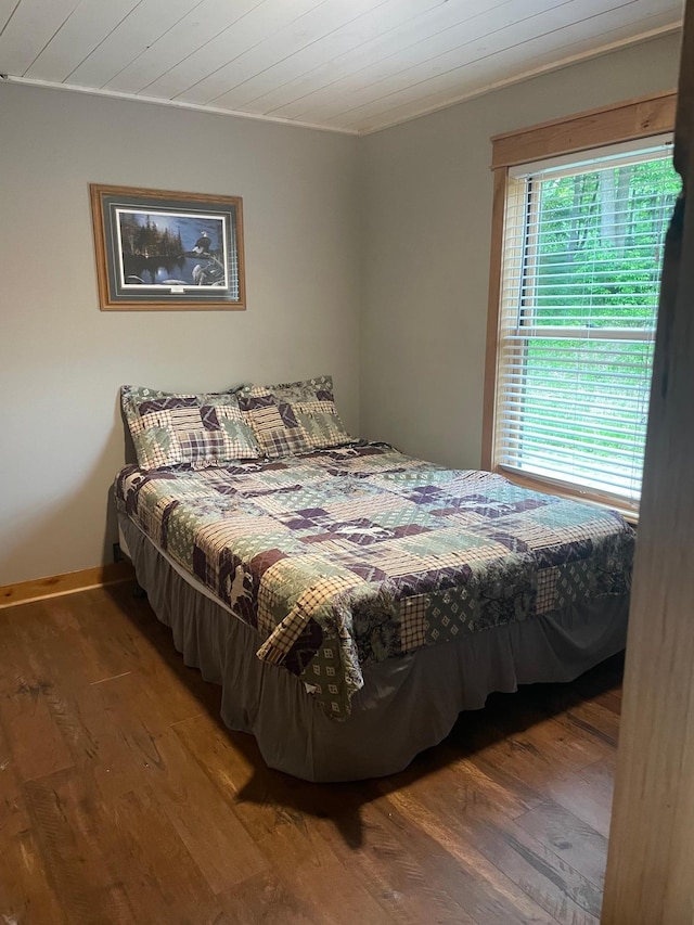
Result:
M141 444L115 483L154 612L270 767L396 772L492 691L568 681L624 647L634 534L616 512L350 440L330 380L308 382L308 397L130 390L159 457Z

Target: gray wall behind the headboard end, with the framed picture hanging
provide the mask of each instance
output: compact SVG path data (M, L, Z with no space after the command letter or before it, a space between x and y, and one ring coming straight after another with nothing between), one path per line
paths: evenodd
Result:
M0 87L0 584L110 561L121 383L332 372L358 431L349 136ZM245 312L100 312L90 182L241 195Z

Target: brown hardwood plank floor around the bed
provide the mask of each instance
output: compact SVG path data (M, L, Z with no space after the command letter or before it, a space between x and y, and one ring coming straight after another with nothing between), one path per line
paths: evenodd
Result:
M221 725L128 584L0 611L0 923L595 923L621 667L308 784Z

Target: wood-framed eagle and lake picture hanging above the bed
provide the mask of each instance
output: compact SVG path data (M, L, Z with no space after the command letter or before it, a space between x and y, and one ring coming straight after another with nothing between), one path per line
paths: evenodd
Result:
M90 192L102 311L246 307L239 196Z

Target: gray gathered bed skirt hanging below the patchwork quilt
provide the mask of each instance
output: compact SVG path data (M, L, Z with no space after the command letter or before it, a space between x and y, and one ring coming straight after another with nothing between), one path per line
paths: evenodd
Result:
M158 619L206 681L221 684L221 717L255 736L270 768L307 781L391 774L441 742L462 710L518 684L571 681L625 647L629 601L607 598L562 620L542 616L368 665L343 722L329 719L288 671L256 658L259 637L217 603L126 516L119 527ZM197 582L195 582L197 583Z

